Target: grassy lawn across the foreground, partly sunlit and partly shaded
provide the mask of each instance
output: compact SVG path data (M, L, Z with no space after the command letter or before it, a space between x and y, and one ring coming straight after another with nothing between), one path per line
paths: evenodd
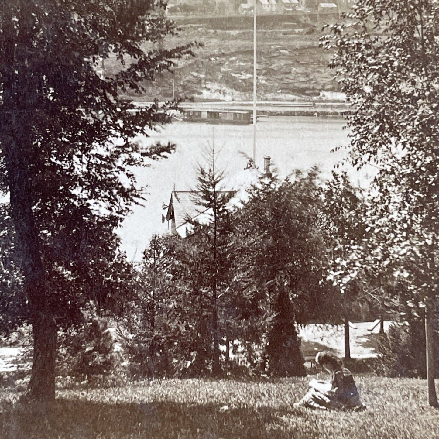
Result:
M59 389L47 405L0 390L0 438L437 438L426 382L357 376L367 410L293 408L310 377L271 382L165 380L109 389Z

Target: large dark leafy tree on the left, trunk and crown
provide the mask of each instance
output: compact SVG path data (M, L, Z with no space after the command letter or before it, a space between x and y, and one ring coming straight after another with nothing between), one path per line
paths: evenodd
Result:
M141 195L132 167L172 149L132 141L145 125L168 122L169 105L135 110L119 98L191 53L190 45L142 50L141 43L175 31L154 6L144 0L0 4L0 178L10 194L33 328L30 398L54 398L58 326L89 293L105 295L81 283L95 263L117 263L109 254L113 230ZM96 63L110 55L121 69L102 77ZM67 282L60 284L61 277Z

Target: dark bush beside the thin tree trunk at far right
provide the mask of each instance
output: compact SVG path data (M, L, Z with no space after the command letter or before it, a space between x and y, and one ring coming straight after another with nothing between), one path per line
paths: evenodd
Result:
M439 338L435 322L435 356L439 353ZM387 334L379 335L378 358L373 369L380 376L396 378L426 378L424 321L413 319L392 324ZM436 376L439 376L436 361Z

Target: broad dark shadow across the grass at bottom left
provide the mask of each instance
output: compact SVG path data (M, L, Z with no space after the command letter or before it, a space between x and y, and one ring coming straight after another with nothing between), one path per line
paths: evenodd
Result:
M98 403L57 399L18 404L0 413L3 439L96 438L272 438L266 425L281 412L269 408L232 408L174 402ZM284 434L285 433L285 434ZM287 438L286 432L276 432Z

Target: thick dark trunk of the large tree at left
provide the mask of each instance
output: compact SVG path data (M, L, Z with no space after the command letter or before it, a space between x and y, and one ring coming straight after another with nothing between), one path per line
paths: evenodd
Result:
M12 95L12 90L7 90L5 96ZM30 166L33 154L32 127L21 113L16 116L18 112L14 111L11 101L5 99L7 115L1 119L0 136L7 169L11 218L21 252L24 289L34 337L32 374L24 397L50 400L55 397L57 328L47 291L43 249L33 211L35 200Z

